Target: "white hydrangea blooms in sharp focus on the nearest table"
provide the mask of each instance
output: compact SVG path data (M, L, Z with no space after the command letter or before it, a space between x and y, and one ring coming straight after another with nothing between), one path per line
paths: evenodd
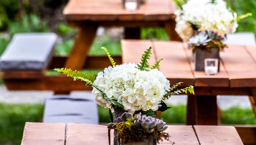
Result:
M166 90L170 89L170 83L157 69L141 71L137 65L122 64L114 67L109 66L104 72L99 72L94 84L104 91L108 98L118 101L124 109L130 113L137 110L156 111ZM92 93L96 95L97 104L111 108L93 88Z

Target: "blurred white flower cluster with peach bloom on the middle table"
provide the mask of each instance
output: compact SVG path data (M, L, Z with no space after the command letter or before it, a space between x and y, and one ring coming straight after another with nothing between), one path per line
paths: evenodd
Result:
M189 0L182 8L175 11L175 30L184 41L193 35L191 23L199 27L199 32L213 31L220 36L234 33L238 27L237 14L232 13L223 0L216 0L215 4L210 0Z

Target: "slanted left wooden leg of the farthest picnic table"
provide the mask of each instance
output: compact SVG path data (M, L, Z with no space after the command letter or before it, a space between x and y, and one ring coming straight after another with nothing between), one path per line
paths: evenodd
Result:
M83 25L75 39L74 46L65 66L72 70L81 70L85 64L87 54L93 43L98 26ZM100 48L99 48L100 50Z

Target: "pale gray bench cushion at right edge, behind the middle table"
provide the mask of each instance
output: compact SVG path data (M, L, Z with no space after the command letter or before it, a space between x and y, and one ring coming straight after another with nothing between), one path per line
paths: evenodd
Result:
M227 34L225 43L234 45L256 45L254 34L247 32Z

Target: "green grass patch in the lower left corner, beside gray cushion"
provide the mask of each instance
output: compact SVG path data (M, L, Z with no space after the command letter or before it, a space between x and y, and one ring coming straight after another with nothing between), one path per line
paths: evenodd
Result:
M41 122L41 104L0 103L0 144L20 144L25 122Z

